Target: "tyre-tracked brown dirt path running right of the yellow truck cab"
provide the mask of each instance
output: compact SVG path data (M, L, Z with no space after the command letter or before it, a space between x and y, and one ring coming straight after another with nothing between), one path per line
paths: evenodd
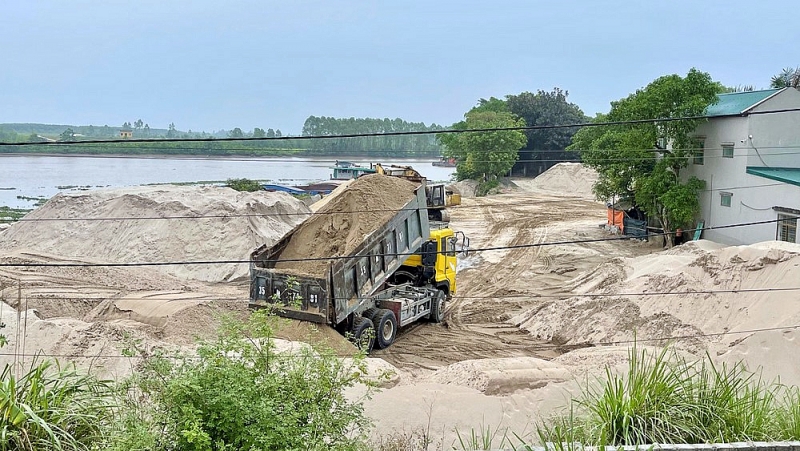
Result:
M598 227L605 206L579 198L517 191L464 199L452 209L451 225L470 238L473 249L568 242L609 235ZM636 256L653 249L633 241L576 243L477 251L460 262L458 293L442 325L419 323L374 355L412 375L469 359L539 357L541 340L508 322L542 303L541 296L568 296L568 282L615 256ZM548 299L549 300L549 299Z

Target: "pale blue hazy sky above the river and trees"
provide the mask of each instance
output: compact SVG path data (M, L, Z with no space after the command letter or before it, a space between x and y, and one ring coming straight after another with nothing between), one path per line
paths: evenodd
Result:
M449 125L554 87L593 116L692 67L767 88L798 42L797 11L771 0L3 0L0 123Z

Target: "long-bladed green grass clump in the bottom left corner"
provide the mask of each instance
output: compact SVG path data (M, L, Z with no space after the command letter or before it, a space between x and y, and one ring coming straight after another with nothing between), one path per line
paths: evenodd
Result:
M85 450L111 422L110 381L74 366L36 360L17 376L6 364L0 374L0 450Z

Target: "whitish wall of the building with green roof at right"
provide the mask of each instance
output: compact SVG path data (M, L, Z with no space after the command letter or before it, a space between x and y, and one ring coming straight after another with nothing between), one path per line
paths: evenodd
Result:
M769 105L768 101L762 108L793 108L800 105L800 99L794 106L778 105ZM699 218L706 227L773 221L778 218L772 208L775 206L800 210L799 186L746 173L747 166L800 168L800 112L715 118L698 127L696 134L705 137L704 164L690 161L682 177L694 175L706 182L700 194ZM722 157L723 143L733 144L733 158ZM767 151L767 147L771 149ZM721 205L723 193L732 195L730 207ZM751 244L774 240L777 228L776 223L770 223L706 230L703 238Z

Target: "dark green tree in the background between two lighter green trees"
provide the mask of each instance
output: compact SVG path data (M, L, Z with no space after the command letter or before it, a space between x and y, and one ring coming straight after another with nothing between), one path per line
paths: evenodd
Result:
M583 111L567 100L569 93L560 88L523 92L506 97L508 111L525 120L529 127L567 125L586 122ZM575 154L565 152L577 127L526 130L528 143L520 151L520 164L525 175L538 175L559 161L574 160Z

